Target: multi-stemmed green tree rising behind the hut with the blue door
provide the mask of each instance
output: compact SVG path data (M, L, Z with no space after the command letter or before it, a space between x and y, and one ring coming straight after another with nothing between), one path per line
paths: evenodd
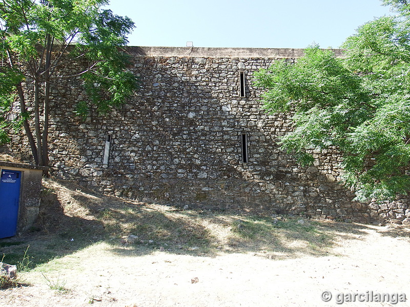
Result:
M61 79L84 78L89 99L78 103L83 117L89 102L106 113L136 88L120 49L134 23L101 9L106 4L0 0L0 142L7 141L12 126L23 125L38 165L48 164L50 89ZM13 101L19 102L17 118L9 114Z

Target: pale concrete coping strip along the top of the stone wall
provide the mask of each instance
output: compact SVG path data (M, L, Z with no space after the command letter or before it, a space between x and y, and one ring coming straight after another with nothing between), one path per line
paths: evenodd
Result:
M304 49L295 48L206 48L206 47L126 47L133 56L165 57L233 57L233 58L300 58ZM344 57L344 49L332 49Z

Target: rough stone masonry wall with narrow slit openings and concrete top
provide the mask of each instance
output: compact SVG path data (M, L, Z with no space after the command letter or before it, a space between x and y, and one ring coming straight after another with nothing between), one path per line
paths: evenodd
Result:
M253 72L300 49L129 47L140 89L108 116L75 115L80 80L53 90L51 164L61 178L144 202L258 209L343 221L410 222L406 199L354 202L337 151L299 167L279 149L291 115L267 114ZM335 50L341 55L341 50ZM20 137L13 140L23 146ZM23 146L24 147L24 146ZM22 152L27 147L21 148Z

